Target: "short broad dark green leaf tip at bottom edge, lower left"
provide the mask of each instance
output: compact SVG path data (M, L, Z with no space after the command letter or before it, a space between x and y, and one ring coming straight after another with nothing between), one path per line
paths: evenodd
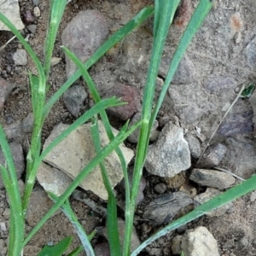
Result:
M48 245L46 245L41 250L41 252L38 253L38 256L62 256L62 254L65 253L65 251L71 244L72 240L72 236L67 236L54 246L49 247Z

